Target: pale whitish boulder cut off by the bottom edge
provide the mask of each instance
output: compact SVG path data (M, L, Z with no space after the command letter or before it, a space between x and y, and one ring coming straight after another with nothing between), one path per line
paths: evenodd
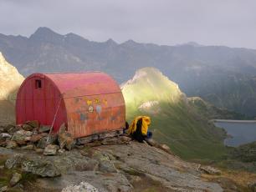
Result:
M97 189L93 185L86 183L86 182L81 182L78 185L71 184L64 189L62 189L61 192L104 192L102 189Z

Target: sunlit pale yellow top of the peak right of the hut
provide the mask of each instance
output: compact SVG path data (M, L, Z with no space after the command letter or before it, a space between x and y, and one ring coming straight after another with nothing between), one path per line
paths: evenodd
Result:
M156 68L141 68L131 80L121 85L125 104L139 106L149 101L170 101L177 103L185 99L177 83L172 82ZM139 107L137 106L137 107Z

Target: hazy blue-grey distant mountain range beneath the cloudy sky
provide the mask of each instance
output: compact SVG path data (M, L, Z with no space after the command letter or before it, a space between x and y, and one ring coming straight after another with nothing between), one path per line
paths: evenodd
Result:
M173 37L175 38L175 37ZM188 96L256 116L256 50L187 43L159 46L132 40L89 41L38 28L29 38L0 34L0 51L24 76L100 70L123 83L136 69L159 68Z

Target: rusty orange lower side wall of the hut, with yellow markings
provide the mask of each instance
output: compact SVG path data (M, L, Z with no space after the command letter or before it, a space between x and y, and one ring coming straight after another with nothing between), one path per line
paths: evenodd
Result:
M69 132L75 138L125 127L125 104L121 93L65 99Z

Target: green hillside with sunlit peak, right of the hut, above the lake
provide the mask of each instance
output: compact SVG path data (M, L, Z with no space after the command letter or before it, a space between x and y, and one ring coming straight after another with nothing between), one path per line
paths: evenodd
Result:
M207 124L187 104L187 98L168 78L155 68L142 68L135 78L126 83L126 117L129 122L137 115L151 116L153 137L168 144L184 159L218 159L225 153L223 130ZM159 101L157 114L138 109L147 101Z

